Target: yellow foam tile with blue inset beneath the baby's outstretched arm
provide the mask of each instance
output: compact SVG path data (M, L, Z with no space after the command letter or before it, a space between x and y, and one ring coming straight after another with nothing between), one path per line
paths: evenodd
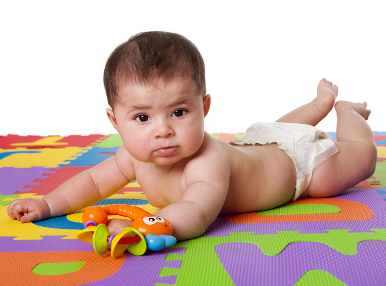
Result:
M21 194L19 199L23 198L42 198L43 196L34 196L34 194ZM113 195L105 200L108 204L110 201L117 203L120 199L124 200L142 200L144 195L139 192L127 192L123 195ZM9 198L7 200L14 200L14 198ZM142 200L144 205L137 205L138 207L148 211L149 213L155 213L159 209L148 204L148 201ZM8 206L0 206L0 236L14 236L15 240L41 240L41 235L63 235L65 236L63 240L72 240L76 239L76 233L78 229L71 227L76 227L81 223L81 215L84 209L79 210L73 214L68 214L67 216L49 218L40 222L24 223L22 224L18 220L12 220L7 213ZM122 218L121 216L110 216L109 218ZM67 224L67 226L65 225ZM44 225L47 225L45 227ZM55 228L53 228L55 227ZM67 227L68 229L63 229L61 227Z

